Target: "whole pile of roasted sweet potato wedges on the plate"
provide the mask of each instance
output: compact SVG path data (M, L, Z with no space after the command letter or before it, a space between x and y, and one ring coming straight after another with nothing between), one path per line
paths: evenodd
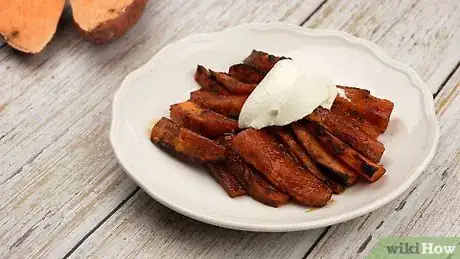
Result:
M199 163L230 197L249 195L279 207L292 200L324 206L359 179L377 181L393 103L369 91L338 86L330 110L318 107L300 121L261 130L239 129L238 115L251 92L278 60L252 51L228 73L198 65L200 90L171 105L170 117L152 129L151 141L181 159Z

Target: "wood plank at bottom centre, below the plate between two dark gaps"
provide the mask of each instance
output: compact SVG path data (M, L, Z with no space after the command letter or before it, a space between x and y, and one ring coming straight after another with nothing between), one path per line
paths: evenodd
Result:
M321 230L255 233L206 225L175 213L140 191L71 258L301 258Z

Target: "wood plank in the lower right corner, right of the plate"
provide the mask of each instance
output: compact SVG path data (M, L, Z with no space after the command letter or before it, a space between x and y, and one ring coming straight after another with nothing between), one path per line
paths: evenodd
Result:
M361 258L385 236L460 235L460 69L436 98L441 138L415 184L395 201L335 225L308 258Z

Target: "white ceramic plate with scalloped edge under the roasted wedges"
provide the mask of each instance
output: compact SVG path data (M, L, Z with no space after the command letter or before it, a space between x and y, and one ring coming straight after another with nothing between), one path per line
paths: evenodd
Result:
M395 103L381 136L387 173L374 184L357 184L334 195L325 207L262 205L249 197L231 199L204 171L178 161L149 141L155 120L198 88L197 64L227 71L252 49L292 57L337 84L371 90ZM330 30L295 25L246 24L189 36L159 51L128 75L115 95L110 140L126 172L153 198L191 218L227 228L294 231L343 222L395 199L430 162L439 138L428 87L409 67L390 59L371 42Z

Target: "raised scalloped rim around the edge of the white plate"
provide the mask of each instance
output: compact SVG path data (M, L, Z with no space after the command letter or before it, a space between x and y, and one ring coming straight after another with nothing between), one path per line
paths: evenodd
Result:
M121 155L121 152L117 150L118 149L117 130L119 128L119 123L120 123L116 116L118 114L117 104L120 103L120 100L124 97L124 95L128 91L126 85L131 80L136 78L137 76L140 76L141 74L143 74L143 71L147 70L147 68L155 62L155 59L163 55L163 53L165 53L168 48L172 48L175 45L184 44L189 41L212 40L215 37L219 37L221 34L231 33L236 30L248 30L248 29L249 30L277 29L277 30L287 31L287 32L290 32L296 35L307 35L307 36L313 36L313 37L321 37L321 36L340 37L350 43L353 43L353 44L359 45L362 48L368 49L376 58L380 59L383 64L395 70L398 70L399 72L404 73L410 79L411 84L413 86L416 86L417 90L421 92L421 95L423 96L423 101L424 101L423 106L425 107L424 113L426 117L428 118L428 123L434 128L434 134L432 131L429 131L431 133L430 135L434 136L434 138L432 139L430 143L431 145L430 151L428 155L425 157L425 159L423 160L423 162L420 163L417 166L417 168L414 170L410 178L404 184L400 185L398 188L390 192L387 196L382 197L382 199L377 200L376 202L373 202L367 206L361 207L360 209L350 211L346 213L345 215L339 215L335 217L329 217L326 219L314 220L314 221L308 221L308 222L302 222L302 223L270 224L270 225L246 224L246 223L241 223L241 222L233 221L233 220L216 219L209 215L200 214L196 211L188 210L186 208L176 206L176 204L168 202L167 199L155 193L154 191L149 189L147 186L145 186L142 183L142 180L139 179L139 177L137 177L134 173L130 172L130 169L127 166L126 158L124 158ZM400 196L404 191L406 191L410 187L410 185L420 176L423 170L431 162L436 152L436 148L437 148L438 141L439 141L439 135L440 135L440 128L439 128L439 124L438 124L438 121L435 115L434 102L432 99L431 91L428 88L428 86L423 82L423 80L420 78L420 76L411 67L404 65L401 62L390 58L375 43L370 42L365 39L357 38L346 32L329 30L329 29L308 29L308 28L299 27L293 24L274 22L274 23L246 23L246 24L235 26L235 27L227 28L227 29L224 29L218 32L192 34L176 42L173 42L173 43L170 43L164 46L146 64L144 64L143 66L139 67L135 71L128 74L126 78L124 79L124 81L122 82L119 89L116 91L114 98L113 98L113 103L112 103L112 123L111 123L111 128L110 128L109 139L113 147L113 150L115 152L115 156L117 157L118 161L124 168L125 172L151 197L153 197L155 200L165 205L166 207L172 210L175 210L185 216L193 218L195 220L198 220L204 223L208 223L208 224L212 224L212 225L216 225L216 226L220 226L220 227L237 229L237 230L258 231L258 232L286 232L286 231L299 231L299 230L320 228L320 227L325 227L325 226L330 226L333 224L345 222L350 219L370 213L386 205L390 201L396 199L398 196Z

